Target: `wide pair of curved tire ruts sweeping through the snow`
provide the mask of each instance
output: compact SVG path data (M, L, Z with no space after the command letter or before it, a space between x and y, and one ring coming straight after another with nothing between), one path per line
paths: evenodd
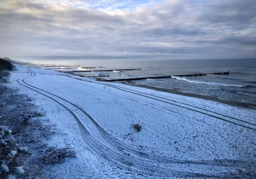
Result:
M31 78L36 74L31 73ZM68 76L69 77L69 76ZM78 78L79 79L79 78ZM72 115L72 117L76 120L77 125L79 126L79 131L81 132L81 136L83 136L84 141L86 144L91 148L92 152L96 152L100 156L102 156L107 161L115 164L123 169L127 169L128 171L132 171L134 173L139 173L141 175L149 175L149 176L161 176L161 177L182 177L182 178L233 178L230 173L234 171L234 168L239 168L239 166L244 166L246 162L237 162L237 161L228 161L228 160L216 160L216 161L186 161L186 160L178 160L172 159L170 157L163 157L161 155L155 154L147 154L141 152L140 150L136 150L124 143L118 141L116 138L111 136L108 132L106 132L100 125L94 120L94 118L84 111L82 108L77 106L66 99L63 99L60 96L56 96L51 92L47 92L43 89L39 89L27 82L25 82L26 78L17 80L20 85L34 90L43 96L49 97L52 101L60 104L65 110L68 111ZM106 85L106 84L104 84ZM115 86L112 86L115 87ZM120 88L120 87L118 87ZM122 89L127 90L127 89ZM138 92L132 92L138 94ZM140 94L138 94L140 95ZM146 94L143 96L148 97ZM150 97L155 99L154 97ZM166 101L163 101L166 103ZM77 115L77 111L79 111L79 115ZM200 112L200 111L199 111ZM83 122L81 122L81 113L83 114L84 118L88 118L97 130L99 131L100 135L104 139L104 141L96 140L93 137L93 134L86 129ZM108 143L108 144L107 144ZM192 173L186 171L180 171L172 169L172 165L179 165L180 168L187 168L189 165L193 165L194 168L204 168L204 166L219 166L225 167L225 171L230 170L227 173L218 173L215 175L207 174L207 173ZM248 166L250 167L250 166ZM234 175L237 177L237 175ZM234 177L234 178L236 178Z

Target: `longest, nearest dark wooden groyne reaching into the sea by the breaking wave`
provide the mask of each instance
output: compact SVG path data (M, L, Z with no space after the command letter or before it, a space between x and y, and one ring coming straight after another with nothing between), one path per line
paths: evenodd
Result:
M111 79L111 80L100 79L100 81L102 81L102 82L116 82L116 81L132 81L132 80L145 80L145 79L156 79L156 78L171 78L172 76L185 77L185 76L205 76L205 75L229 75L229 71L227 71L227 72L217 72L217 73L195 73L195 74L188 74L188 75L168 75L168 76L121 78L121 79Z

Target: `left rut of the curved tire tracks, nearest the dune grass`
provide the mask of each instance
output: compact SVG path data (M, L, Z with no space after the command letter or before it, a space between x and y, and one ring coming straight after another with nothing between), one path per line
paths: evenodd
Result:
M33 77L33 76L35 76L35 74L34 75L31 74L31 76L29 76L28 78ZM24 82L25 79L26 78L24 78L22 80L22 82ZM19 80L17 80L18 83L20 83ZM26 84L26 82L24 82L24 83ZM20 83L20 85L27 87L26 85L23 85L22 83ZM79 125L79 130L80 130L81 134L83 134L82 137L84 138L84 141L86 141L86 144L89 147L91 147L94 152L101 155L104 159L111 162L112 164L115 164L116 166L118 166L120 168L127 169L128 171L132 171L134 173L138 173L138 174L142 174L142 175L159 176L159 177L167 176L167 177L178 177L178 178L179 177L182 177L182 178L191 178L191 177L192 178L223 178L223 173L220 176L205 175L205 174L201 174L201 173L190 173L190 172L186 172L186 171L177 171L177 170L170 169L170 168L162 168L157 165L152 166L152 164L151 164L151 166L149 166L150 164L147 162L136 161L136 163L135 163L134 160L127 159L127 155L120 156L120 154L118 154L118 152L111 150L111 148L108 148L108 147L102 145L102 143L100 143L99 141L92 138L90 132L88 132L88 130L84 127L83 123L81 123L79 118L77 118L76 114L73 113L70 110L70 108L68 108L64 104L60 103L60 101L57 101L53 97L48 96L38 90L32 89L31 87L27 87L27 88L34 90L35 92L38 92L46 97L49 97L56 103L63 106L63 108L65 108L65 110L67 110L72 115L72 117L74 117L75 120L77 121L77 124ZM34 87L34 88L36 88L36 87ZM56 96L56 97L58 97L58 96ZM105 148L104 151L102 150L102 147ZM136 159L136 158L134 158L134 159ZM121 161L118 161L118 160L121 160ZM126 164L126 165L124 165L124 164ZM156 169L157 169L157 171L156 171Z

